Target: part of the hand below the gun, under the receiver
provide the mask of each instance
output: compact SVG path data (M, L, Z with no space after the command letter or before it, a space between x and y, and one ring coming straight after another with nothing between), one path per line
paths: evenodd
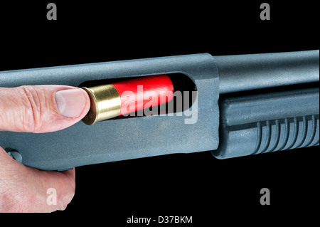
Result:
M39 171L16 162L0 147L0 211L64 210L75 194L75 169Z

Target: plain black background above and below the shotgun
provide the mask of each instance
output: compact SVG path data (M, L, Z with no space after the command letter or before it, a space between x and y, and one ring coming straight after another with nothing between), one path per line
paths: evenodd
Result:
M315 1L268 0L270 21L260 20L264 1L52 1L57 21L46 19L49 2L1 1L0 70L319 49ZM315 148L225 160L170 154L76 168L75 197L53 215L103 226L124 226L132 215L193 216L185 226L309 220L319 206L318 183ZM270 206L260 205L264 187Z

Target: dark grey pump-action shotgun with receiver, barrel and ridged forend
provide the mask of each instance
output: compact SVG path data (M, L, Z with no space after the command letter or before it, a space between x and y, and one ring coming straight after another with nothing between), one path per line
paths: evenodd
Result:
M169 75L196 102L172 115L78 122L43 134L0 132L11 157L44 170L212 151L226 159L319 145L319 50L122 60L0 72L0 87L99 84ZM190 110L196 122L186 124Z

